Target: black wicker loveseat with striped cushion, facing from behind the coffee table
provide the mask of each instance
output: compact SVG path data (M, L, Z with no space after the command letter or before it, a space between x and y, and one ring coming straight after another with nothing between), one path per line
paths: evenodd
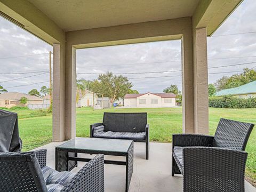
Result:
M91 138L130 139L146 142L149 156L149 124L147 113L104 113L102 123L91 125Z

